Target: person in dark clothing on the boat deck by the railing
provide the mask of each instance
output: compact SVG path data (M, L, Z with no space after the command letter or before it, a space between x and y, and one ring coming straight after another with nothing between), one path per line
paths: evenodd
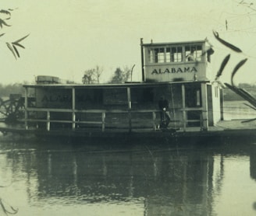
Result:
M168 127L169 122L171 121L171 117L169 114L169 101L165 99L165 96L162 96L158 101L158 106L160 109L160 118L161 124L160 127Z

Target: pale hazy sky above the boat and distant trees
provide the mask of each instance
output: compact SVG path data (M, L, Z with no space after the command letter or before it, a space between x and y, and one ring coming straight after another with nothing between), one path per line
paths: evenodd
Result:
M81 82L84 71L103 68L108 82L116 68L132 68L133 81L141 79L140 38L144 43L204 40L213 45L214 71L231 54L220 78L230 83L236 64L247 58L234 82L256 83L256 1L233 0L1 0L2 9L15 9L10 27L0 37L1 81L34 82L37 75L53 75ZM252 3L252 4L251 4ZM250 5L251 4L251 5ZM227 25L226 25L227 23ZM237 54L213 36L240 47ZM21 42L17 60L6 47Z

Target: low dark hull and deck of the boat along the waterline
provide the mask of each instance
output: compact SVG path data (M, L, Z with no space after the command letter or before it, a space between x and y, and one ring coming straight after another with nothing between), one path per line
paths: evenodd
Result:
M232 138L256 138L256 122L246 122L244 120L222 120L214 127L208 127L208 131L201 131L200 127L186 127L158 129L134 128L108 128L104 132L99 128L76 128L72 131L67 128L52 129L51 131L38 130L36 128L25 129L23 125L6 125L0 123L2 134L36 134L52 137L84 137L84 138L208 138L208 137L232 137Z

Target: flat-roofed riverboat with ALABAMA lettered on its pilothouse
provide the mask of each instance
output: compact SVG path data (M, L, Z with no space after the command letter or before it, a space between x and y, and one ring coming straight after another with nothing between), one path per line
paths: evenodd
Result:
M254 124L224 120L223 85L214 81L214 51L207 40L144 44L141 39L140 52L141 82L78 85L37 76L35 84L23 85L22 126L0 131L79 138L255 136ZM162 96L169 102L166 127L158 107Z

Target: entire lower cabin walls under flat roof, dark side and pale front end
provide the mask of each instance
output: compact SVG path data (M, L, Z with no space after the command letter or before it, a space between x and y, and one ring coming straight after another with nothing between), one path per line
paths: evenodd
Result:
M162 96L169 101L170 127L202 127L202 82L175 82L161 85L121 85L93 88L90 86L40 86L35 88L37 118L51 119L51 127L153 127L160 122L158 101ZM69 89L67 89L69 88ZM220 118L219 99L215 99L212 85L208 85L208 124ZM74 100L73 100L74 93ZM216 93L219 96L219 92ZM51 109L48 111L48 109ZM58 110L55 110L58 109ZM217 110L217 113L212 110ZM75 115L74 115L75 112ZM66 122L57 122L64 120ZM69 122L67 122L69 121ZM45 123L41 124L45 127Z

